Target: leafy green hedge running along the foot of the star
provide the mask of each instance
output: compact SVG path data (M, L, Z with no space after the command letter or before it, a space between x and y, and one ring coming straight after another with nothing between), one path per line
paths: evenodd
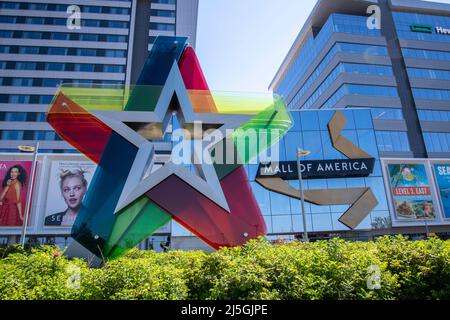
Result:
M0 258L0 299L450 299L450 242L439 239L132 250L100 269L49 246ZM370 266L378 289L368 288Z

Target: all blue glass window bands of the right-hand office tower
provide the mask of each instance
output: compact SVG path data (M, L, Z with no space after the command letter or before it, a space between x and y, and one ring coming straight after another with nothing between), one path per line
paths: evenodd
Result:
M450 86L446 86L446 82L450 80L450 69L443 65L443 62L450 61L450 50L446 50L443 43L450 42L450 36L445 32L440 33L438 29L448 28L450 25L450 17L444 17L431 14L419 14L411 12L392 12L394 18L395 31L401 40L416 40L428 41L428 43L436 42L438 45L436 49L430 46L420 47L418 44L409 45L400 42L400 47L403 57L409 59L405 61L407 66L407 74L411 81L413 98L416 101L417 115L420 121L447 122L449 120L450 111L447 110L425 110L427 106L425 101L429 103L441 103L450 100ZM414 28L415 25L427 26L429 32L418 32ZM377 120L377 126L380 129L376 130L376 139L380 152L388 153L409 153L415 152L415 144L411 147L408 140L408 133L405 129L388 128L383 121L399 120L407 124L409 128L409 117L405 118L401 107L397 106L398 102L402 101L399 91L396 86L379 85L375 78L370 76L383 76L386 82L390 82L394 78L394 73L389 62L386 64L377 64L375 62L367 61L381 61L381 57L389 57L387 47L383 45L373 45L374 36L384 37L384 33L380 30L369 30L367 28L367 17L356 16L343 13L330 13L328 19L321 28L312 29L307 35L306 40L302 44L301 49L290 61L289 68L282 71L280 80L275 84L275 91L277 94L285 97L288 106L291 110L294 109L333 109L336 104L341 102L344 97L352 96L349 101L351 105L339 104L339 108L358 108L358 103L355 103L355 96L361 97L361 106L372 107L372 118ZM330 37L335 33L347 33L360 35L360 43L346 43L339 41L330 46L331 49L324 54L324 48ZM364 39L364 40L362 40ZM367 41L367 44L365 42ZM356 42L356 41L355 41ZM370 43L370 44L369 44ZM355 63L356 60L345 56L345 60L341 61L333 69L329 68L333 58L339 52L353 53L356 57L360 57L360 62ZM321 61L316 62L318 56L323 56ZM355 61L355 62L350 62ZM311 70L311 65L315 65L314 70ZM436 67L434 67L436 65ZM431 67L433 66L433 67ZM324 72L327 72L324 77ZM333 88L333 84L342 74L348 74L346 83L339 88ZM351 75L365 75L367 76L367 83L364 83L364 78L355 77L355 83L352 83ZM322 78L321 82L317 80ZM350 79L350 80L347 80ZM380 78L378 78L380 79ZM356 81L357 80L357 81ZM428 84L423 82L426 80L441 80L441 83L429 81ZM398 81L398 79L397 79ZM373 85L372 83L377 83ZM420 84L415 87L415 84ZM448 87L448 89L446 88ZM311 90L313 89L313 90ZM402 93L402 96L406 93ZM326 100L323 101L324 95ZM370 101L370 97L386 97L397 98L391 99L392 102L386 102L386 99L374 99ZM319 102L320 101L320 102ZM379 102L377 102L379 101ZM363 103L364 102L364 103ZM389 103L389 108L386 107ZM439 107L438 107L439 108ZM441 107L442 108L442 107ZM444 109L444 108L443 108ZM392 124L392 123L391 123ZM431 124L429 124L431 125ZM400 124L399 124L400 126ZM404 126L404 125L401 125ZM438 133L428 132L431 129L427 127L425 144L427 150L435 150L429 152L449 152L444 143L444 136L447 133L442 132L439 128ZM450 127L449 127L450 133ZM437 143L439 141L439 144Z

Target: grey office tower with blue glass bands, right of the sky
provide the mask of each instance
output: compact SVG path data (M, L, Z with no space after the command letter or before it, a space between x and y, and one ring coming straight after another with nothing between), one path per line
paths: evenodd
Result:
M318 1L270 88L293 110L372 108L382 157L448 158L449 26L448 4Z

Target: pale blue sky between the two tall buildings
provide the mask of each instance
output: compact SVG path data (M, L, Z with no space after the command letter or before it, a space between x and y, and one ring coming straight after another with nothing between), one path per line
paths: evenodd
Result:
M196 51L210 88L266 92L315 3L200 0Z

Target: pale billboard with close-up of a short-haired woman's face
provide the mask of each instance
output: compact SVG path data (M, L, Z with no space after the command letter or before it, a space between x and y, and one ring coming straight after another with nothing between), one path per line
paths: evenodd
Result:
M90 161L51 162L44 226L73 225L95 169Z

